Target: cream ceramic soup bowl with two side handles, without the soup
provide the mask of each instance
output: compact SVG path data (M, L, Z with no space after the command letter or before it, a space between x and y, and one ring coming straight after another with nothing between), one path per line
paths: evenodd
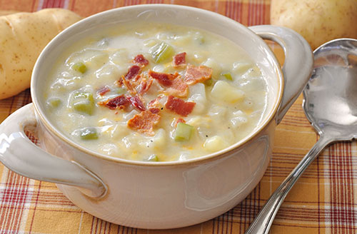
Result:
M216 153L156 163L95 153L54 127L44 111L42 84L61 51L106 26L149 21L211 31L251 56L268 83L267 111L255 131ZM283 69L263 39L283 47ZM246 28L211 11L164 4L105 11L61 32L42 51L32 73L33 103L1 123L0 160L20 175L56 183L74 204L111 223L152 229L201 223L233 208L261 180L271 158L276 125L308 81L312 58L310 46L290 29ZM35 126L41 148L25 136L26 126Z

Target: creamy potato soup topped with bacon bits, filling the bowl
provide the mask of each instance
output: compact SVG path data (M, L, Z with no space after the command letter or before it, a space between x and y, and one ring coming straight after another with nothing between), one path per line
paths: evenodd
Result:
M221 36L167 24L105 29L63 52L46 112L72 141L134 161L183 161L231 146L262 121L266 80Z

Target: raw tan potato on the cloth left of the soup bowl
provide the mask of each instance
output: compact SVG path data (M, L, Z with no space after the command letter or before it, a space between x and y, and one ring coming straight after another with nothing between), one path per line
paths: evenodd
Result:
M80 19L65 9L0 16L0 99L29 88L32 68L42 49Z

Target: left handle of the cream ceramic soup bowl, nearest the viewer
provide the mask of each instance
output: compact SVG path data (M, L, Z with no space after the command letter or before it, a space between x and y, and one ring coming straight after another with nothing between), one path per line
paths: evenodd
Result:
M32 103L20 108L0 124L0 161L15 173L35 180L78 186L92 198L106 194L106 185L94 173L74 161L53 156L32 143L25 126L36 126Z

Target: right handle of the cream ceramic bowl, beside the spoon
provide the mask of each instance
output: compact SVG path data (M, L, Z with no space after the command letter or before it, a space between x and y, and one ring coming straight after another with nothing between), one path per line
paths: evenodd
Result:
M311 76L313 53L308 42L291 29L272 25L251 26L249 29L261 36L262 39L278 43L285 54L283 64L284 93L276 115L276 123L280 123Z

